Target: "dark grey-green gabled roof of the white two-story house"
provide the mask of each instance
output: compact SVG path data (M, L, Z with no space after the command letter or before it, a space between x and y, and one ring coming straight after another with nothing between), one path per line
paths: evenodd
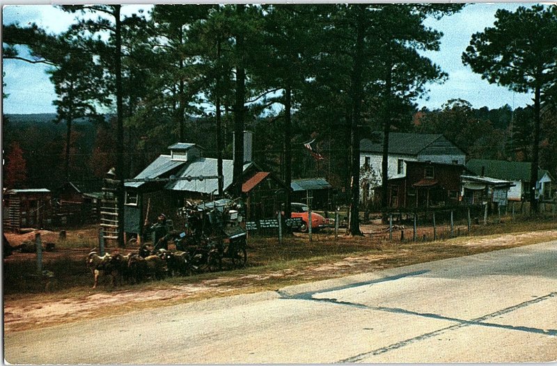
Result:
M360 141L361 152L383 152L383 134L375 132L372 139ZM389 133L389 154L465 154L457 145L441 134Z

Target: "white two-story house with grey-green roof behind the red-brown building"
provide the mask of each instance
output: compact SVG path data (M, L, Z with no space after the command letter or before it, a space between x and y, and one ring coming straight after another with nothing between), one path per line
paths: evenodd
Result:
M382 133L376 132L371 138L363 138L360 141L362 197L369 197L372 189L382 184L383 136ZM405 177L405 161L464 165L466 153L441 134L391 132L387 173L389 179Z

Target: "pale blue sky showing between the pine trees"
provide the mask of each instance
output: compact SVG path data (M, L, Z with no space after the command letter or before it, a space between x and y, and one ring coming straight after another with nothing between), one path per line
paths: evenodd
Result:
M448 100L460 98L467 100L474 108L487 106L496 109L505 104L513 108L531 104L532 95L513 93L507 88L496 86L482 80L470 67L462 65L462 52L469 45L471 35L493 26L498 8L514 11L518 6L531 6L531 3L473 3L460 13L443 17L440 20L427 19L426 25L441 31L441 49L428 52L427 56L448 73L448 81L432 84L427 97L417 100L418 107L439 109ZM137 13L148 9L149 5L125 5L123 14ZM51 5L8 5L3 7L3 24L20 25L36 23L51 33L68 29L74 15ZM24 53L25 50L22 50ZM56 99L54 86L46 74L47 66L29 64L17 60L3 61L4 92L8 98L3 100L3 113L55 113L52 101Z

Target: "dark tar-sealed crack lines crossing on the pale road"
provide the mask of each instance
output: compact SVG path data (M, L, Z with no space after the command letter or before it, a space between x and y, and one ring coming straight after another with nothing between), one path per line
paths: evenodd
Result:
M285 293L280 292L280 291L278 291L278 294L281 295L281 299L285 299L285 300L292 299L292 300L306 300L306 301L326 302L326 303L333 303L333 304L336 304L336 305L353 306L355 308L363 308L363 309L377 310L377 311L384 311L384 312L393 312L393 313L405 314L405 315L415 315L415 316L418 316L418 317L427 317L427 318L430 318L430 319L455 321L457 323L457 324L453 324L452 326L447 326L445 328L438 329L437 331L424 333L424 334L418 335L416 337L411 337L407 340L402 340L400 342L390 344L389 346L386 346L386 347L381 347L381 348L375 349L373 351L360 353L356 356L352 356L350 358L345 358L344 360L339 360L337 363L356 363L358 361L363 360L363 358L366 358L367 356L375 356L375 355L378 355L378 354L381 354L381 353L392 351L393 349L399 349L401 347L407 346L408 344L418 342L418 341L421 341L421 340L426 340L427 338L440 335L442 333L445 333L446 331L453 331L455 329L464 328L466 326L487 326L487 327L492 327L492 328L508 329L508 330L511 330L511 331L523 331L523 332L527 332L527 333L549 335L549 336L553 336L553 337L557 336L557 330L556 329L547 330L547 329L533 328L533 327L528 327L528 326L512 326L512 325L506 325L506 324L496 324L496 323L485 322L487 319L492 319L494 317L499 317L500 315L505 315L505 314L508 314L509 312L513 312L513 311L518 310L520 308L525 308L526 306L532 305L534 303L539 303L541 301L545 301L547 299L555 297L555 296L557 296L557 292L551 292L547 295L539 296L535 299L524 301L522 303L518 303L517 305L512 305L508 308L497 310L496 312L492 312L492 313L489 313L487 315L483 315L482 317L477 317L477 318L474 318L474 319L471 319L471 320L459 319L459 318L454 318L454 317L444 317L443 315L432 314L432 313L427 313L427 312L415 312L415 311L412 311L412 310L405 310L405 309L401 309L401 308L387 308L387 307L382 307L382 306L368 306L368 305L364 305L364 304L361 304L361 303L352 303L350 301L338 301L337 299L334 299L334 298L331 299L331 298L314 298L313 297L313 295L315 295L315 294L322 294L324 292L333 292L333 291L338 291L340 289L349 289L349 288L359 287L359 286L363 286L363 285L372 285L374 283L382 283L382 282L386 282L386 281L390 281L390 280L398 280L399 278L405 278L405 277L408 277L408 276L416 276L418 274L423 274L423 273L426 273L426 272L428 272L428 271L416 271L416 272L410 272L410 273L402 273L401 275L398 275L398 276L390 276L390 277L385 277L385 278L379 278L377 280L371 280L371 281L366 281L366 282L361 282L361 283L354 283L354 284L345 285L345 286L331 287L330 289L322 289L322 290L315 291L315 292L304 292L304 293L296 294L296 295L289 295L289 294L285 294Z

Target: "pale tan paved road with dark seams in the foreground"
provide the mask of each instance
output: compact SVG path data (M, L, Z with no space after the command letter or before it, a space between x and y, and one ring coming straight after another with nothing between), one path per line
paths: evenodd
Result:
M557 241L5 335L10 363L557 360Z

